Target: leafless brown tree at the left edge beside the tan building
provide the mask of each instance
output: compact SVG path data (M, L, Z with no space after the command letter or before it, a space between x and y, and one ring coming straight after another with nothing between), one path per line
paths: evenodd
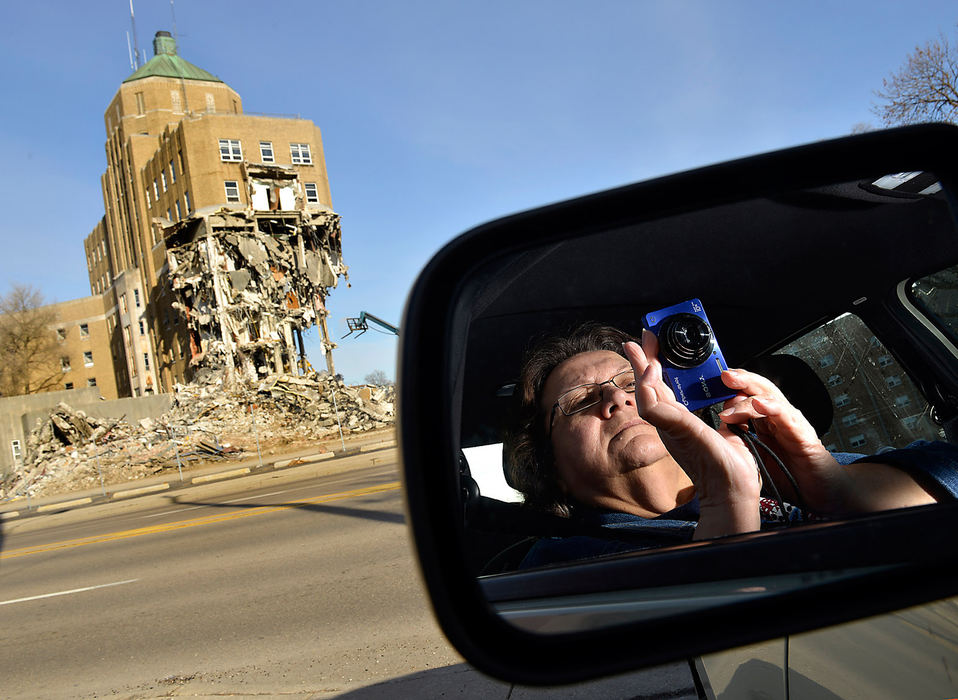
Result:
M37 394L59 383L57 320L29 285L14 284L0 296L0 395Z

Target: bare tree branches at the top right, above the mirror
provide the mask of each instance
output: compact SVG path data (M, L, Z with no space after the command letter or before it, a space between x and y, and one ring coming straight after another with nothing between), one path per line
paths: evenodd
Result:
M872 111L886 126L958 122L958 47L944 34L915 47L875 94L884 103Z

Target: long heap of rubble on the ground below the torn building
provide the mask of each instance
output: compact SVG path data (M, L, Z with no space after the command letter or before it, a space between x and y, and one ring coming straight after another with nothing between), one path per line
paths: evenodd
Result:
M38 497L125 483L279 451L339 444L395 421L395 389L351 387L327 372L227 381L225 370L177 385L157 419L98 419L60 403L27 441L24 466L0 482L0 498ZM323 441L329 443L328 447Z

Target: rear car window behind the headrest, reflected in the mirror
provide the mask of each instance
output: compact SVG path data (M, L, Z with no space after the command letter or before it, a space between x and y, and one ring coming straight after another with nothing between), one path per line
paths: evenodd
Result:
M877 454L944 437L921 392L858 316L839 316L779 354L805 360L828 390L834 417L822 442L830 451Z

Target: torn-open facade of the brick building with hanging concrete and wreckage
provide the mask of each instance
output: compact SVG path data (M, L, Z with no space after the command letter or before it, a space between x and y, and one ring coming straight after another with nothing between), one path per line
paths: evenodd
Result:
M299 374L308 369L302 334L318 324L332 367L325 299L349 269L339 215L320 205L293 209L290 198L300 196L294 171L246 167L253 207L208 208L167 226L155 221L173 307L190 333L190 365L247 381Z

